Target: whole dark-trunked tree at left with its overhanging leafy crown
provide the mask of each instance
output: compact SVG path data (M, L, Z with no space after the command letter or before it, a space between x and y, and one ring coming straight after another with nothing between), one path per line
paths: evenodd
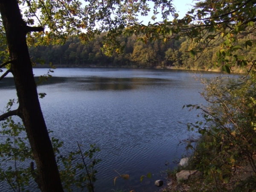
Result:
M166 18L174 11L171 1L153 0L154 13L162 7L163 18ZM19 5L25 7L24 18ZM61 192L63 188L38 100L27 44L64 44L67 36L74 34L88 43L95 34L108 31L103 38L104 49L108 54L112 49L118 52L120 44L116 36L137 22L138 13L147 15L148 11L145 0L88 0L84 6L79 0L0 0L0 35L8 42L6 54L9 53L6 57L9 60L0 65L8 70L0 79L13 74L19 100L18 108L4 113L0 120L13 115L22 119L38 168L36 181L41 191ZM40 26L34 26L35 22Z

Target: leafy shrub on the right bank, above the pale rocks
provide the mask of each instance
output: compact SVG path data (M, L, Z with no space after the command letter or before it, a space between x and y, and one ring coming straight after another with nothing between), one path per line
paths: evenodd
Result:
M228 183L231 168L244 159L256 173L255 71L250 75L244 79L204 79L206 86L201 95L209 105L187 105L201 110L204 119L188 124L190 130L196 129L202 136L195 148L194 163L205 176L215 180L216 186L218 180ZM191 143L188 148L193 148Z

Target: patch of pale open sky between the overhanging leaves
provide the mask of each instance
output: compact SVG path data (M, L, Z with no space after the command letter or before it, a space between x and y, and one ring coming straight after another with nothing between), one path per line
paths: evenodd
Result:
M195 2L195 1L194 1ZM175 6L178 14L179 14L179 19L183 18L186 13L192 9L192 6L195 3L193 3L193 0L173 0L173 5ZM151 21L151 23L154 23L156 21L161 21L161 15L157 16L157 19L155 21L151 20L151 14L149 12L147 17L139 17L139 22L143 21L143 24L148 24L149 21ZM150 15L150 16L149 16ZM173 17L170 16L168 20L173 20Z

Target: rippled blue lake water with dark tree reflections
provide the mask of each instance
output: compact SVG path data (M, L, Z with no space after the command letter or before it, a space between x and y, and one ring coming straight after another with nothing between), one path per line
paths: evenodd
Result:
M34 69L35 76L47 69ZM96 143L102 162L96 181L97 192L134 189L142 192L140 176L151 172L146 192L158 191L154 181L164 179L164 170L186 154L180 140L189 137L185 124L195 122L198 112L183 105L200 104L201 81L183 70L59 68L47 83L38 86L47 127L64 141L62 151L77 150L76 141L87 150ZM204 73L210 78L219 73ZM17 98L13 78L0 81L0 109ZM165 166L166 160L170 163ZM130 186L118 174L128 174ZM112 190L113 191L113 190ZM128 190L127 190L128 191Z

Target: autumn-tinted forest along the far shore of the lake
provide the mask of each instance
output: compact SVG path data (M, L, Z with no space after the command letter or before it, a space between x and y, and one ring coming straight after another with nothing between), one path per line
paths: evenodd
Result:
M189 38L177 40L147 42L137 41L136 35L119 38L121 46L124 47L122 53L113 52L107 56L102 52L102 37L97 35L90 44L82 44L78 37L70 37L63 45L50 45L30 48L30 55L34 63L45 61L45 64L52 62L54 65L63 67L138 67L138 68L165 68L175 67L178 69L211 70L215 68L217 61L218 47L222 38L216 39L212 46L207 47L198 53L195 58L191 57L189 50L198 46L197 42L192 42ZM244 43L246 38L240 40ZM241 54L255 55L252 49L240 51Z

